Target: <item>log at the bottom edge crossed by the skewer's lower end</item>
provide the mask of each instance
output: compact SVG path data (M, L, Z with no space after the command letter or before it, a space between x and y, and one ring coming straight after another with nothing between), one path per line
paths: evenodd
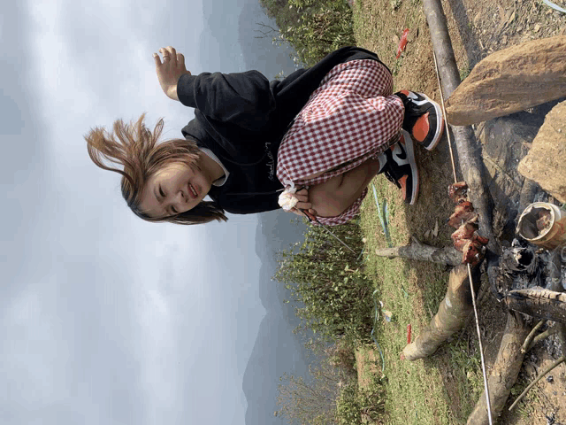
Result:
M493 420L496 420L509 398L511 388L515 385L516 377L523 365L524 353L521 352L524 338L529 334L529 328L524 327L524 322L518 313L507 315L507 324L501 338L501 345L497 353L497 359L492 367L492 373L488 378L490 402ZM484 391L478 399L478 403L468 417L467 425L487 425L486 392Z

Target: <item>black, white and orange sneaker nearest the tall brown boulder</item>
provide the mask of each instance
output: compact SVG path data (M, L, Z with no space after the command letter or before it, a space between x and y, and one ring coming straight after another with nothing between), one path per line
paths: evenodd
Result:
M432 151L440 142L444 131L442 108L423 93L401 90L395 93L401 97L405 106L402 128L420 143L424 149Z

